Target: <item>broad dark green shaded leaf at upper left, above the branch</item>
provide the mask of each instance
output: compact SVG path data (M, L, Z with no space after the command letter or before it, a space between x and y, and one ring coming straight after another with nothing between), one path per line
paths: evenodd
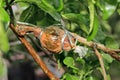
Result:
M38 6L29 5L20 15L20 21L35 25L48 26L54 21L54 19L49 20L49 17L51 18L50 15L46 14Z

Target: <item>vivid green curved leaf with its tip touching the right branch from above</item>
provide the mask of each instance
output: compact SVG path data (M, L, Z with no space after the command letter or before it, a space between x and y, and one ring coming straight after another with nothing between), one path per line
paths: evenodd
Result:
M87 37L88 41L95 38L95 36L98 32L98 28L99 28L98 26L99 26L98 19L97 19L97 17L95 17L94 24L93 24L93 29L92 29L91 33L89 34L89 36Z

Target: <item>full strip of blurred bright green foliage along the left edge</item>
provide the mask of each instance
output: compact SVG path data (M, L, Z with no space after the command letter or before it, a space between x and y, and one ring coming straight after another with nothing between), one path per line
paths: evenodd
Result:
M0 1L0 76L3 76L6 72L5 64L2 59L2 51L7 52L9 50L8 38L5 32L5 28L8 27L10 18L3 8L4 1Z

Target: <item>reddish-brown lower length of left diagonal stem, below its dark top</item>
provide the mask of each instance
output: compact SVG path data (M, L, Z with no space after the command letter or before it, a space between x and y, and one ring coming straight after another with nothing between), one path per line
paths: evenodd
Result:
M10 28L12 31L18 36L17 31L15 30L15 27L13 24L10 24ZM34 60L38 63L38 65L41 67L41 69L45 72L45 74L51 79L51 80L59 80L44 64L42 59L39 57L39 55L36 53L36 51L33 49L33 47L29 44L29 42L24 38L24 36L18 36L19 40L23 43L23 45L27 48L30 55L34 58Z

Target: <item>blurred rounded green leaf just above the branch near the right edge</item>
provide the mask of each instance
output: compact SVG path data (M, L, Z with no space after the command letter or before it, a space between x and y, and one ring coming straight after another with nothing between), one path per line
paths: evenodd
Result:
M119 48L119 44L112 37L106 37L105 45L106 47L111 48L111 49Z

